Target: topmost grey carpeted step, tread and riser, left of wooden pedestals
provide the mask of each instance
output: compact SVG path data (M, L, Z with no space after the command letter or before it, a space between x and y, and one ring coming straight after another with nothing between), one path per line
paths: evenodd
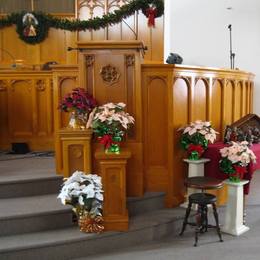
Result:
M0 199L58 193L62 176L54 158L5 160L0 163Z

